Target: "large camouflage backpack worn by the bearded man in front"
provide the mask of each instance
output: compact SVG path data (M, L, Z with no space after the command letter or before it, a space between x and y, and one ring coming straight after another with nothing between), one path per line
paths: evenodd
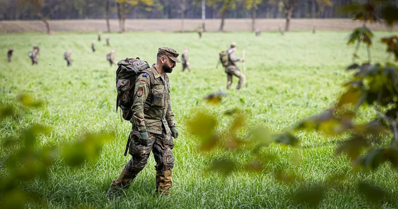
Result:
M140 59L126 58L117 63L116 70L116 112L118 107L121 109L123 119L130 121L133 116L131 106L135 94L135 80L141 73L146 72L150 77L151 86L154 78L150 71L150 66L146 61Z

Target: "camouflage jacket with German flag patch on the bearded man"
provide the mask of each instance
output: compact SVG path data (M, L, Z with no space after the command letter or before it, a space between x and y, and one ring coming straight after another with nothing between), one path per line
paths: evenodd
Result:
M170 126L174 125L174 114L170 103L169 76L161 76L155 65L150 68L152 75L142 73L135 81L133 99L133 129L140 131L146 128L150 133L162 134L162 125L166 133L170 133ZM154 83L151 84L150 76Z

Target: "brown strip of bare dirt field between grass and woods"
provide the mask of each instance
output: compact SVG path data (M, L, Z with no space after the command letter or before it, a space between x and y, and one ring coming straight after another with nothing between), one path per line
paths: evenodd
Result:
M251 19L226 19L225 31L248 31L251 29ZM118 31L118 21L110 21L111 30ZM184 21L184 30L193 31L201 25L201 20L187 19ZM206 20L208 31L219 29L219 19ZM256 25L262 31L275 31L279 26L285 25L285 19L257 19ZM293 19L291 21L292 30L312 30L316 26L317 30L350 30L353 27L361 26L359 21L350 19ZM94 32L105 31L105 20L52 20L50 27L53 31L67 32ZM388 30L382 24L372 24L369 27L373 30ZM126 31L179 31L181 29L180 19L135 19L126 20ZM394 30L398 29L396 25ZM0 33L25 33L25 32L45 32L45 26L41 21L0 21Z

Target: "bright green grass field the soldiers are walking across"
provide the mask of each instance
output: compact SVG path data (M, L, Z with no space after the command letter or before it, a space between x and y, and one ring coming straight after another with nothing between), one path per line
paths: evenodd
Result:
M312 184L322 184L335 174L346 174L340 189L326 192L321 208L397 208L396 170L388 165L377 172L359 172L354 175L350 162L343 156L336 157L334 150L342 139L326 137L318 133L299 132L302 160L294 163L294 148L271 145L266 152L277 156L269 162L269 168L285 167L306 179L303 184L287 185L275 180L269 172L234 172L223 177L207 173L209 159L231 156L234 160L250 162L250 152L198 152L198 139L187 130L186 121L198 109L207 109L217 115L234 107L248 115L248 124L240 130L244 135L250 127L266 125L273 133L279 133L313 113L319 113L336 101L343 90L340 85L350 76L343 69L351 63L352 46L346 45L348 31L263 33L205 33L198 39L195 33L136 32L111 34L111 47L97 43L97 51L91 52L91 41L96 34L62 35L0 35L0 104L9 104L20 93L33 95L45 101L41 110L30 110L18 123L4 120L0 140L16 135L18 130L32 123L50 125L51 135L42 137L41 145L59 145L71 142L82 132L112 131L114 141L105 145L100 159L94 165L68 168L56 162L47 184L29 182L29 191L43 197L43 205L31 208L76 208L89 205L94 208L302 208L292 203L291 192ZM389 32L375 32L375 40ZM226 90L226 74L217 64L218 52L234 41L237 56L246 49L248 87L241 91ZM33 43L40 47L39 65L31 66L28 51ZM188 47L193 72L181 72L177 64L169 75L172 91L172 108L180 132L175 140L174 185L170 199L153 195L155 170L153 155L148 165L132 182L126 195L113 201L105 198L112 179L129 160L123 152L130 124L121 122L115 113L115 66L109 67L105 55L117 49L116 59L140 57L154 63L158 47L170 46L181 52ZM6 51L15 47L12 63L6 61ZM64 52L73 49L73 65L66 67ZM373 62L384 61L385 48L375 41L371 52ZM366 59L366 49L361 47L359 57ZM234 78L233 87L237 84ZM228 97L221 105L205 104L202 98L209 93L226 91ZM361 110L371 117L366 109ZM222 116L220 116L222 117ZM363 118L365 119L365 118ZM220 128L228 127L230 119L222 117ZM388 141L386 140L386 143ZM0 158L8 153L0 149ZM2 169L1 172L4 172ZM369 203L357 192L359 181L373 182L390 193L379 205Z

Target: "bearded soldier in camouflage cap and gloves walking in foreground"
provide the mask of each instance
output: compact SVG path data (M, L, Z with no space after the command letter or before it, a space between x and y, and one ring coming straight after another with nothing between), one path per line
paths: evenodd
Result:
M156 64L147 72L141 72L135 82L131 143L128 145L131 160L125 164L119 177L113 180L107 192L128 188L131 180L144 168L150 152L156 161L156 189L159 194L170 194L174 167L173 138L178 137L174 114L170 104L170 84L166 73L179 63L178 53L170 47L160 47Z

